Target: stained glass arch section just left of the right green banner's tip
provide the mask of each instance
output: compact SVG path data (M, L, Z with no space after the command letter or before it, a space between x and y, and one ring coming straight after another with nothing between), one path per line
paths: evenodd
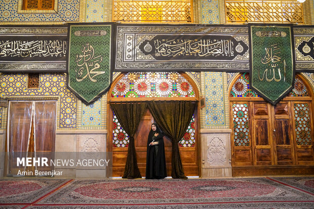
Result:
M230 91L230 97L259 97L257 93L250 89L249 73L243 73L234 82Z

